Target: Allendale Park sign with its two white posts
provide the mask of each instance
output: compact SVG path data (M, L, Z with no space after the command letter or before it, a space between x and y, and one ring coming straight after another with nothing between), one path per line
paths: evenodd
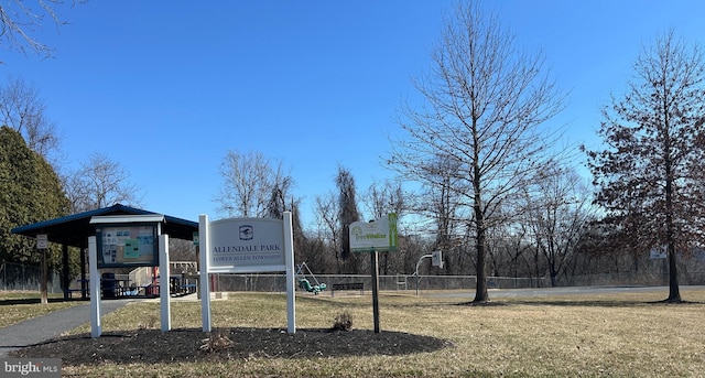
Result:
M286 272L288 332L296 332L294 244L291 212L283 219L229 218L208 222L198 217L200 244L200 314L203 331L210 332L210 273Z

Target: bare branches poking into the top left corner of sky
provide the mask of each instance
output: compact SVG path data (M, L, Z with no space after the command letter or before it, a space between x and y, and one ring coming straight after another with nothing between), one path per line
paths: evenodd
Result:
M70 7L85 2L70 1ZM45 21L56 28L66 24L59 10L68 7L63 0L13 0L0 6L0 44L7 50L17 50L26 55L32 52L43 57L52 55L52 47L36 40L34 34L43 30Z

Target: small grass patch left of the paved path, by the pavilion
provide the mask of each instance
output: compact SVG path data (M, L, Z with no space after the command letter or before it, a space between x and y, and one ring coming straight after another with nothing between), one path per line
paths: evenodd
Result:
M62 294L48 294L48 303L41 304L36 291L0 291L0 327L80 303L62 299Z

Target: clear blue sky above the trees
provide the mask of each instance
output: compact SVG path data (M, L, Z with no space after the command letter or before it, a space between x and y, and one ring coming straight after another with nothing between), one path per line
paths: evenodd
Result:
M143 207L218 217L229 150L281 159L310 224L337 166L358 188L392 176L380 163L410 78L430 67L455 1L89 1L37 39L40 60L2 51L0 71L40 90L64 134L66 166L119 162ZM566 109L570 143L599 147L599 107L625 88L643 44L673 28L703 43L701 1L486 1L523 47L542 48Z

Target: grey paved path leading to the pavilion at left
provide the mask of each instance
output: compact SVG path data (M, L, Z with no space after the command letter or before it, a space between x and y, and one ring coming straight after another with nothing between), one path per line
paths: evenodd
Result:
M135 301L134 299L100 301L101 314L105 315ZM86 323L90 323L89 302L2 327L0 328L0 358L7 358L11 350L58 337Z

